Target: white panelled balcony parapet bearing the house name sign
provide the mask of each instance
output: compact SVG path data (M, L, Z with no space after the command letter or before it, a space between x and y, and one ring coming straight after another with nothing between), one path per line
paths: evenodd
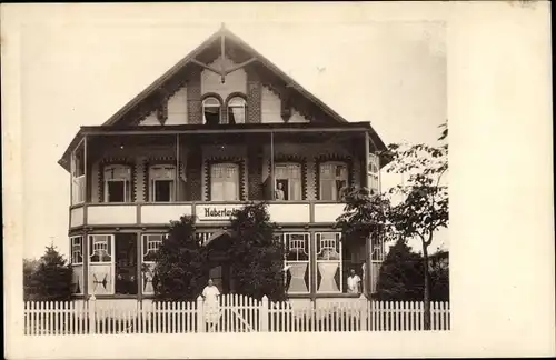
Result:
M246 202L142 202L85 203L70 208L70 228L79 227L155 227L197 217L200 226L224 226L234 210ZM270 201L270 219L284 226L330 226L344 211L345 203L327 201Z

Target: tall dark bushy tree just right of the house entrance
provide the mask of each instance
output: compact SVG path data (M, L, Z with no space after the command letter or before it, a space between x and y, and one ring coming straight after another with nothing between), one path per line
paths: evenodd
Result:
M256 299L285 300L284 244L275 240L267 204L248 203L235 211L230 228L236 290Z

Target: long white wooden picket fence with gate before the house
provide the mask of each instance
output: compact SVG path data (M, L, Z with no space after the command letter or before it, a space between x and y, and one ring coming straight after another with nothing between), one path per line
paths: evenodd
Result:
M117 300L116 300L117 301ZM299 331L415 331L424 330L423 302L383 302L363 298L326 306L292 308L289 302L258 301L239 294L220 297L209 309L199 297L190 302L153 302L136 309L115 302L33 302L24 304L29 336L187 333L187 332L299 332ZM107 306L108 303L108 306ZM449 330L447 302L431 302L431 330Z

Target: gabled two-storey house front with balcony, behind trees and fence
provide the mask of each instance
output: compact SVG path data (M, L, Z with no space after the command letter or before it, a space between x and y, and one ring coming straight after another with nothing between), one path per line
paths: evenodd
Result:
M149 301L170 220L195 216L208 244L248 201L267 201L278 224L291 300L359 297L351 269L371 294L383 244L334 224L347 187L379 191L385 149L369 122L348 122L222 27L102 126L81 127L59 161L76 298ZM234 292L226 259L207 277Z

